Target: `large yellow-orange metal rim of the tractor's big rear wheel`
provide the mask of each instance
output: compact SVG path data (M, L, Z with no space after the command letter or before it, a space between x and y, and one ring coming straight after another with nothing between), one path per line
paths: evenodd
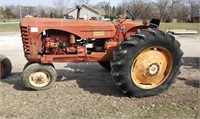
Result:
M133 82L142 89L160 86L172 70L173 60L170 52L159 46L141 52L132 64Z

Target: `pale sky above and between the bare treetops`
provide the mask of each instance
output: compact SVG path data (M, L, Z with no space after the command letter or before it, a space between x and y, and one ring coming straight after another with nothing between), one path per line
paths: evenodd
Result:
M0 0L0 6L4 5L25 5L25 6L37 6L37 5L44 5L44 6L53 6L53 0ZM96 4L100 1L108 1L108 0L90 0L91 4ZM116 6L121 3L123 0L109 0L112 6ZM146 0L151 1L151 0ZM71 4L74 0L71 0Z

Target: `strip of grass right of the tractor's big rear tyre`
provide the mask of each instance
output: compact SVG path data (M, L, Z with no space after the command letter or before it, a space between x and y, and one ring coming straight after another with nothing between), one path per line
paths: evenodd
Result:
M173 30L173 29L186 29L197 30L200 34L200 23L161 23L160 29Z

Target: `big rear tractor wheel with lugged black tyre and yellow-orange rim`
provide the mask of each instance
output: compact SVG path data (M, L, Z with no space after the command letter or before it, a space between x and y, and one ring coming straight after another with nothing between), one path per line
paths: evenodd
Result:
M112 76L130 97L157 95L180 73L182 55L180 43L173 36L158 29L141 30L114 52Z

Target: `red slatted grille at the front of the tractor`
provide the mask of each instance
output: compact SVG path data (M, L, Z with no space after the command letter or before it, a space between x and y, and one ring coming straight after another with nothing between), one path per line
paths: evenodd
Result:
M21 37L22 37L22 42L23 42L23 48L24 48L24 53L26 55L30 54L30 44L29 44L29 39L28 39L28 28L27 27L21 27Z

